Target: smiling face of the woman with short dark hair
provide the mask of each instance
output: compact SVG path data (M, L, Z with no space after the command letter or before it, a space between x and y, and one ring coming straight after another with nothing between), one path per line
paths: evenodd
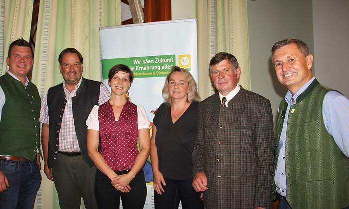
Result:
M112 94L115 95L125 95L131 87L130 83L130 73L125 73L119 71L114 74L114 76L108 81Z

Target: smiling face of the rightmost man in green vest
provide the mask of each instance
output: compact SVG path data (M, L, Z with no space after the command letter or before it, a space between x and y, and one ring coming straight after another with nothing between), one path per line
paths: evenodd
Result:
M296 44L275 50L272 59L278 80L292 95L313 77L313 55L304 56Z

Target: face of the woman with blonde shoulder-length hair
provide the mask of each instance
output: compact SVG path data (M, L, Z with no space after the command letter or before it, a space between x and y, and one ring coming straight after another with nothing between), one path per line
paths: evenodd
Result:
M184 99L187 100L188 81L181 72L175 71L169 79L169 94L172 100Z

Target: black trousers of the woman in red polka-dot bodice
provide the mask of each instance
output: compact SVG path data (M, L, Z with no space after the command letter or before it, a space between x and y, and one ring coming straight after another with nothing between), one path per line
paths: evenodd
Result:
M115 171L118 175L127 174L128 171ZM120 198L123 209L143 209L147 198L147 186L143 170L139 171L130 182L129 193L116 190L111 180L101 171L97 170L95 180L95 195L99 209L119 209Z

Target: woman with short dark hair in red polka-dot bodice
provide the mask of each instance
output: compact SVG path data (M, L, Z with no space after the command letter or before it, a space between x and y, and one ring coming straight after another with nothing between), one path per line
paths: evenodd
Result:
M94 106L86 121L88 155L98 168L95 196L100 209L118 209L120 197L124 209L143 209L146 201L142 168L150 150L150 122L143 106L128 101L133 78L126 65L112 67L111 98Z

